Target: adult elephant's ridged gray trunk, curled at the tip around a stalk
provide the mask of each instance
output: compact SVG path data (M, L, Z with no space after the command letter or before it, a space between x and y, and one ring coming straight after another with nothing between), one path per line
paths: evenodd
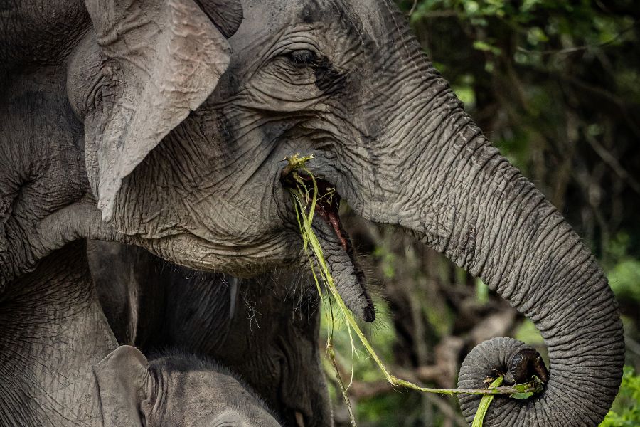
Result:
M378 166L380 193L368 196L360 214L410 229L482 278L535 323L548 346L545 390L530 399L497 398L484 425L596 426L617 394L624 339L614 295L590 250L491 147L439 76L398 109L388 130L398 141L395 154L381 157L389 164ZM507 373L522 346L508 339L481 344L466 358L459 386L483 387L487 376ZM479 396L460 400L471 421Z

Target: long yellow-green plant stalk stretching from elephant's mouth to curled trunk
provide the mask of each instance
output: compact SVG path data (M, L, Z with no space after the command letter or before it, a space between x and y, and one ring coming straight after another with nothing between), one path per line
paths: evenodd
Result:
M385 364L383 364L380 357L378 357L378 354L376 354L373 347L371 347L371 344L369 343L368 339L364 336L360 327L358 327L358 323L356 322L355 317L353 317L353 314L351 313L351 311L348 310L348 308L346 307L345 303L342 300L342 297L338 293L338 289L336 288L334 279L331 277L331 273L329 272L329 266L326 264L326 260L324 259L320 242L318 241L318 238L316 237L313 229L311 228L311 223L314 218L315 204L316 204L316 201L318 200L318 184L316 183L316 179L314 175L311 174L309 169L306 169L305 164L309 159L312 159L312 158L313 158L312 156L299 158L297 157L297 155L295 155L288 159L289 160L289 167L287 167L287 169L289 170L288 173L290 173L293 176L294 180L297 182L296 189L290 189L290 191L294 199L298 225L300 227L300 233L302 234L303 248L307 257L309 258L309 263L311 264L311 272L313 274L313 277L316 283L316 288L319 292L319 295L322 297L323 293L318 280L318 276L316 275L316 271L315 271L317 266L317 268L319 268L319 273L324 282L324 285L329 290L331 299L336 302L343 316L347 320L346 325L349 333L349 339L351 340L352 356L353 356L354 344L353 344L353 336L352 336L351 330L353 330L353 332L356 332L356 335L358 335L358 338L360 339L363 346L367 350L369 356L373 359L375 364L378 365L378 368L380 369L380 371L382 371L383 375L385 376L385 379L389 381L389 383L394 387L402 386L407 389L423 391L425 393L436 393L436 394L447 394L447 395L479 394L479 395L492 396L496 394L536 393L536 392L542 391L543 389L540 381L539 380L535 381L535 379L525 384L516 384L514 386L501 386L501 387L496 387L494 389L434 389L430 387L417 386L416 384L413 384L410 381L399 379L396 376L393 376L392 374L390 374L388 369L385 367ZM300 178L300 176L297 174L297 171L302 171L306 175L311 177L311 181L313 183L313 193L311 195L309 194L309 190L306 189L304 180ZM303 198L304 198L304 201L302 200ZM309 248L311 248L311 252L315 255L316 263L314 263L313 258L311 257L311 253L309 253ZM329 337L331 337L331 335L329 335ZM331 344L331 342L327 343L328 346L329 344ZM352 378L353 378L353 370L352 370Z

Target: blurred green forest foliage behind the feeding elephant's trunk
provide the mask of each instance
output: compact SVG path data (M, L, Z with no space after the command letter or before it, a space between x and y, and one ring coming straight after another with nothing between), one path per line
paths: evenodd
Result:
M633 372L640 371L640 2L398 5L485 134L599 258L623 314L629 365L602 426L639 426L640 379ZM377 305L386 326L369 334L396 373L454 386L464 356L494 335L517 337L546 357L533 324L480 280L392 228L357 218L346 225L371 254L371 276L385 285L388 300ZM348 373L348 338L336 341ZM394 391L368 359L356 357L355 364L350 393L358 425L464 425L455 399ZM347 426L337 396L336 426Z

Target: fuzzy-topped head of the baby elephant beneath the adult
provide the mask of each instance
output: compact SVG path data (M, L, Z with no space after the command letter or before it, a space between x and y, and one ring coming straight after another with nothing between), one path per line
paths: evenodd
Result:
M94 368L105 427L277 427L264 402L227 369L195 357L147 362L118 347Z

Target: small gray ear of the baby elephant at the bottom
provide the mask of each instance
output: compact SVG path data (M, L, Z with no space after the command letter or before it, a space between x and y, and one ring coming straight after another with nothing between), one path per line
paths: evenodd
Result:
M139 349L122 345L95 365L104 427L144 425L140 405L147 398L148 364Z

